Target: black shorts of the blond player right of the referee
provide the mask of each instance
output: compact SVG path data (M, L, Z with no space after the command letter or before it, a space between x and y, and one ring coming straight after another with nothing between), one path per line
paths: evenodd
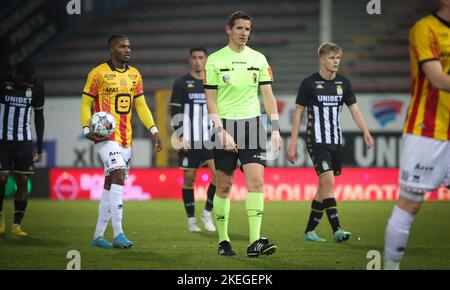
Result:
M309 156L318 176L333 171L335 176L341 175L341 146L307 144Z

